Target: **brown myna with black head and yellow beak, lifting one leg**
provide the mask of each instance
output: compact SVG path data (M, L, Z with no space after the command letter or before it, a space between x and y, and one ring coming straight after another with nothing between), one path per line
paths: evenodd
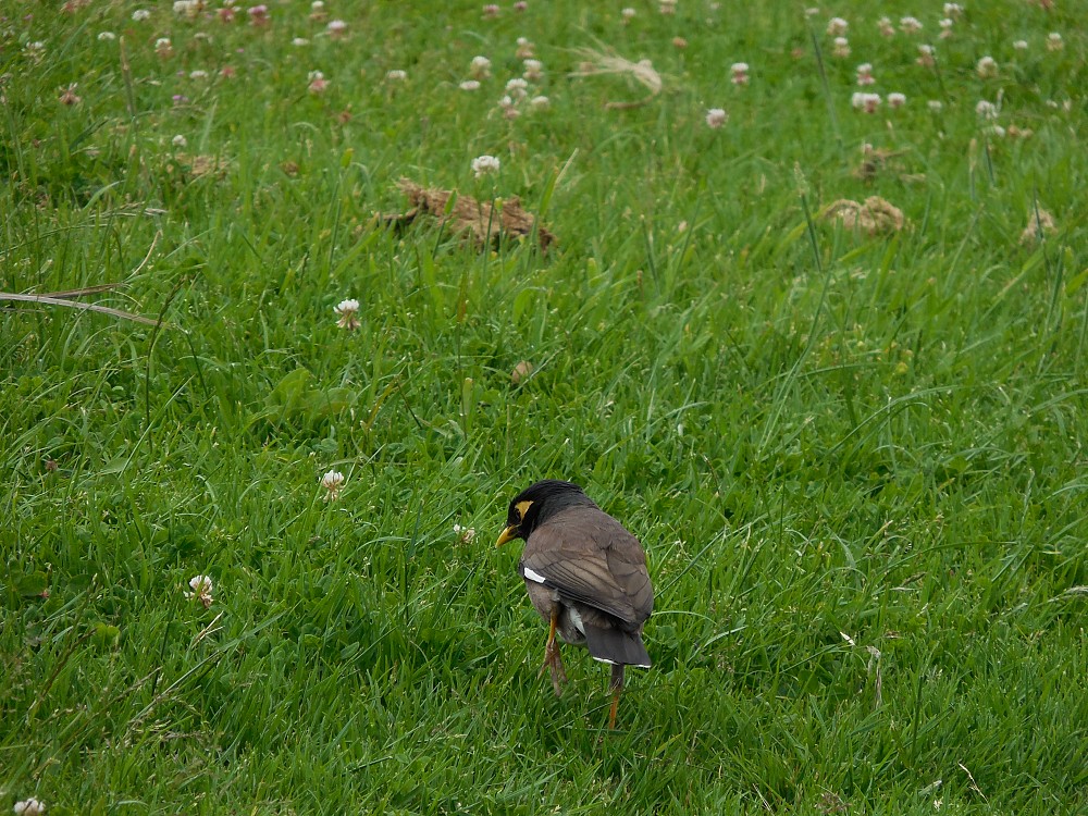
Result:
M518 572L529 599L548 622L544 669L555 693L567 679L555 636L588 646L595 660L611 664L608 726L623 689L623 667L650 667L642 627L654 609L654 588L639 540L570 482L545 480L510 502L498 546L524 539Z

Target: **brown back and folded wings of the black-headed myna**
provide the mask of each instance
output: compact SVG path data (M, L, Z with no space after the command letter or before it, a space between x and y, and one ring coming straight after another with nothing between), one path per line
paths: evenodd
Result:
M519 571L526 580L543 582L632 628L654 608L642 545L596 507L571 508L536 528Z

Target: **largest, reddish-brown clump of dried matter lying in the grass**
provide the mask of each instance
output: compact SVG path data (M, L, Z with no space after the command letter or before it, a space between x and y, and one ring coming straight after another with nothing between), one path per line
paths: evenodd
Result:
M424 187L409 178L401 178L397 186L408 197L411 209L380 215L387 226L408 226L422 214L441 219L455 234L470 236L480 249L497 246L503 238L530 237L534 230L541 249L547 251L555 243L555 235L543 224L537 224L535 215L522 209L517 196L496 202L493 208L487 201L477 201L454 190Z

